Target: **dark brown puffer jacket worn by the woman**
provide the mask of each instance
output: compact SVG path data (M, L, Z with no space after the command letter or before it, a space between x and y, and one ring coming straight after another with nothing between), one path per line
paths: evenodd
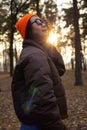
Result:
M12 80L17 117L24 124L64 130L58 102L64 104L65 91L57 69L40 45L33 41L24 41L24 45Z

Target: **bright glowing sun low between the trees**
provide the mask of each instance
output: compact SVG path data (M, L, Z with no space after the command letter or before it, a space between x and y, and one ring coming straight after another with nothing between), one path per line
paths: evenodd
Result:
M57 33L54 33L51 31L47 41L48 43L53 44L54 46L57 46L57 41L58 41Z

